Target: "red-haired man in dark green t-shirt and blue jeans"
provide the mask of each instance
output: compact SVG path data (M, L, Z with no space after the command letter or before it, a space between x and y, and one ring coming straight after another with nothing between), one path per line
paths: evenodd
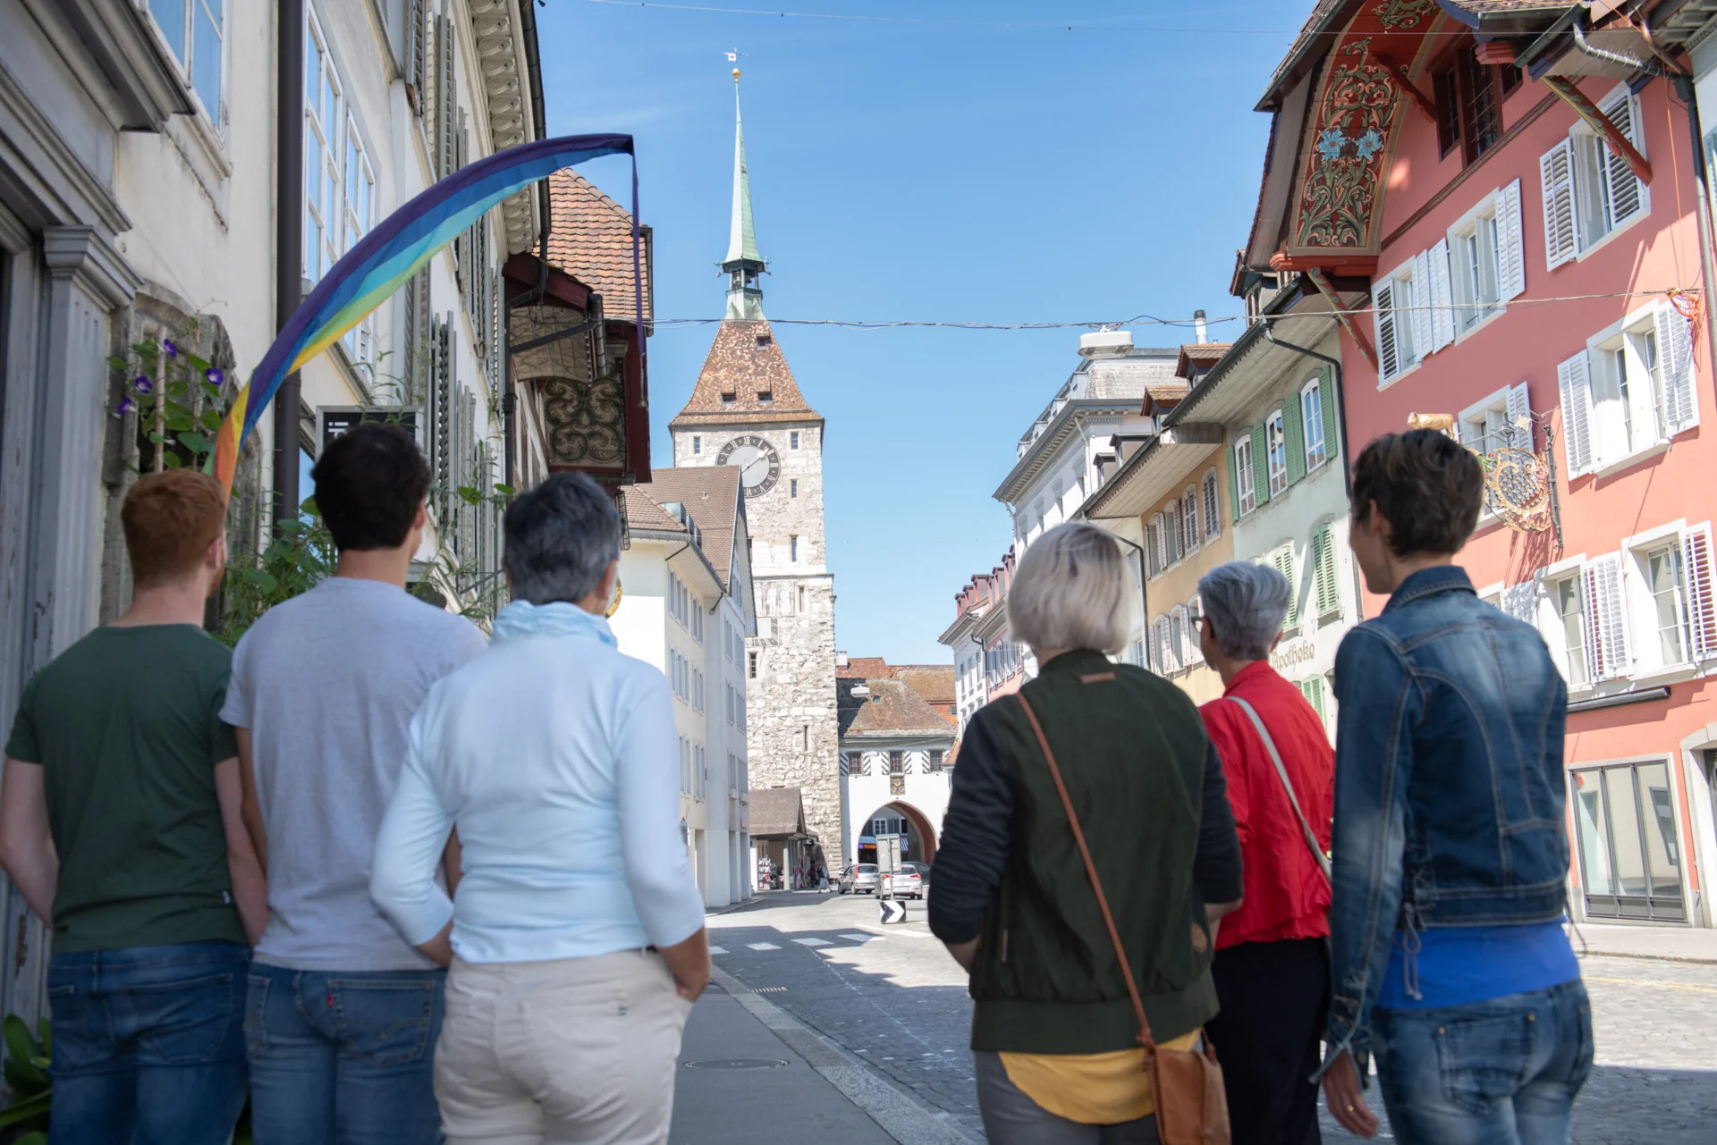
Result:
M227 506L215 479L168 470L132 486L120 518L132 606L24 687L0 867L53 930L55 1145L225 1145L268 922L220 721L232 654L203 632Z

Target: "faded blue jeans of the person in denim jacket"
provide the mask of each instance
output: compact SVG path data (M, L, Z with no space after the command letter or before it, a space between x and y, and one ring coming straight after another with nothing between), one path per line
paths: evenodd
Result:
M1375 1009L1372 1047L1403 1145L1568 1145L1592 1073L1592 1003L1574 978L1447 1009Z

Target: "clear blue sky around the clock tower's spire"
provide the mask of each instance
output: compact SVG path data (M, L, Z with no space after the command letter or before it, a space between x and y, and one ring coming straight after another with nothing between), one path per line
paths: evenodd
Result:
M750 7L745 0L714 0ZM771 0L774 2L774 0ZM786 2L786 0L783 0ZM1269 117L1252 110L1312 0L792 0L802 12L1063 21L1107 31L537 9L551 134L637 137L656 314L719 318L733 82L757 245L824 457L836 647L950 663L953 594L1010 544L992 493L1078 364L1078 330L843 330L780 319L1104 321L1235 314ZM1195 31L1138 31L1145 27ZM1226 29L1226 31L1224 31ZM1262 29L1262 31L1247 31ZM628 203L623 160L585 175ZM1212 324L1216 340L1238 323ZM659 330L658 465L713 326ZM1192 342L1137 326L1138 345Z

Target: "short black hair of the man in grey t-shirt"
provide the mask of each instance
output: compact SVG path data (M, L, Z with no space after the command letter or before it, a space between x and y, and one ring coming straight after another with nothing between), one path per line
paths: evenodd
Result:
M337 549L397 549L429 493L429 462L400 424L364 422L323 450L311 479Z

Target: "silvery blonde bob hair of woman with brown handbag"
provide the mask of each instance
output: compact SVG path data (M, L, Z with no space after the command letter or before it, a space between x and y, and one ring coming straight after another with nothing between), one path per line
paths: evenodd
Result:
M1020 558L1008 627L1034 649L1119 652L1133 635L1135 597L1114 537L1083 522L1058 525Z

